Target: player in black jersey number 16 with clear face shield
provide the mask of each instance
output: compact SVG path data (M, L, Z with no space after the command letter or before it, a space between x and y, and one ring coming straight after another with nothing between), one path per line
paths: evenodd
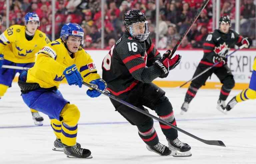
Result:
M172 105L165 92L152 81L168 75L181 59L175 55L172 59L168 50L163 57L155 49L148 31L148 21L140 10L129 10L124 14L126 32L111 48L102 63L103 79L107 82L111 94L147 111L143 106L154 110L159 118L177 125ZM135 111L124 104L110 99L118 111L132 125L136 125L141 139L148 150L159 155L191 156L190 146L178 139L177 130L160 123L169 148L159 142L153 127L153 119ZM148 111L147 111L148 112Z

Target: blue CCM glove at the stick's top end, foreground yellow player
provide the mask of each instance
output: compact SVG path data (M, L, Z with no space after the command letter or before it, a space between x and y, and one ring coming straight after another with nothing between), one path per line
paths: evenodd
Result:
M63 74L65 75L68 84L69 85L78 85L79 88L82 87L82 77L80 72L77 70L77 67L75 64L73 64L72 66L67 67Z

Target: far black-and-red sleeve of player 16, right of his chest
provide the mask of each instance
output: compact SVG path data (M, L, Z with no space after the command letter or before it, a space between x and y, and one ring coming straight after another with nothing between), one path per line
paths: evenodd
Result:
M149 38L149 48L147 49L147 54L148 54L147 67L152 66L156 60L161 58L160 52L157 51L154 43L152 43L152 40L150 38Z

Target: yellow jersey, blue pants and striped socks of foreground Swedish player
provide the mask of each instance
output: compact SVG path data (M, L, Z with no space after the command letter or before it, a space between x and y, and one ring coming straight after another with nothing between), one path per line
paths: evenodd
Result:
M37 83L40 89L22 94L24 102L30 108L50 117L56 137L68 146L76 143L80 112L76 105L69 104L62 97L57 88L65 78L63 71L73 64L81 73L84 82L89 83L100 78L90 55L81 47L73 53L73 58L71 58L61 39L47 44L38 52L34 67L27 73L26 82Z

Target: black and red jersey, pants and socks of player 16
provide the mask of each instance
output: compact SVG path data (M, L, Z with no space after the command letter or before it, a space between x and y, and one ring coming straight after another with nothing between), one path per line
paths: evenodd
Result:
M140 109L143 106L154 110L157 115L173 125L176 121L172 105L165 92L154 85L152 81L157 77L166 77L155 65L160 53L148 37L139 42L128 32L111 48L102 63L102 77L108 84L108 90L118 97ZM153 127L153 119L110 99L116 111L126 118L132 125L136 125L139 136L148 145L156 145L159 140ZM173 140L178 137L177 130L160 123L166 138Z

